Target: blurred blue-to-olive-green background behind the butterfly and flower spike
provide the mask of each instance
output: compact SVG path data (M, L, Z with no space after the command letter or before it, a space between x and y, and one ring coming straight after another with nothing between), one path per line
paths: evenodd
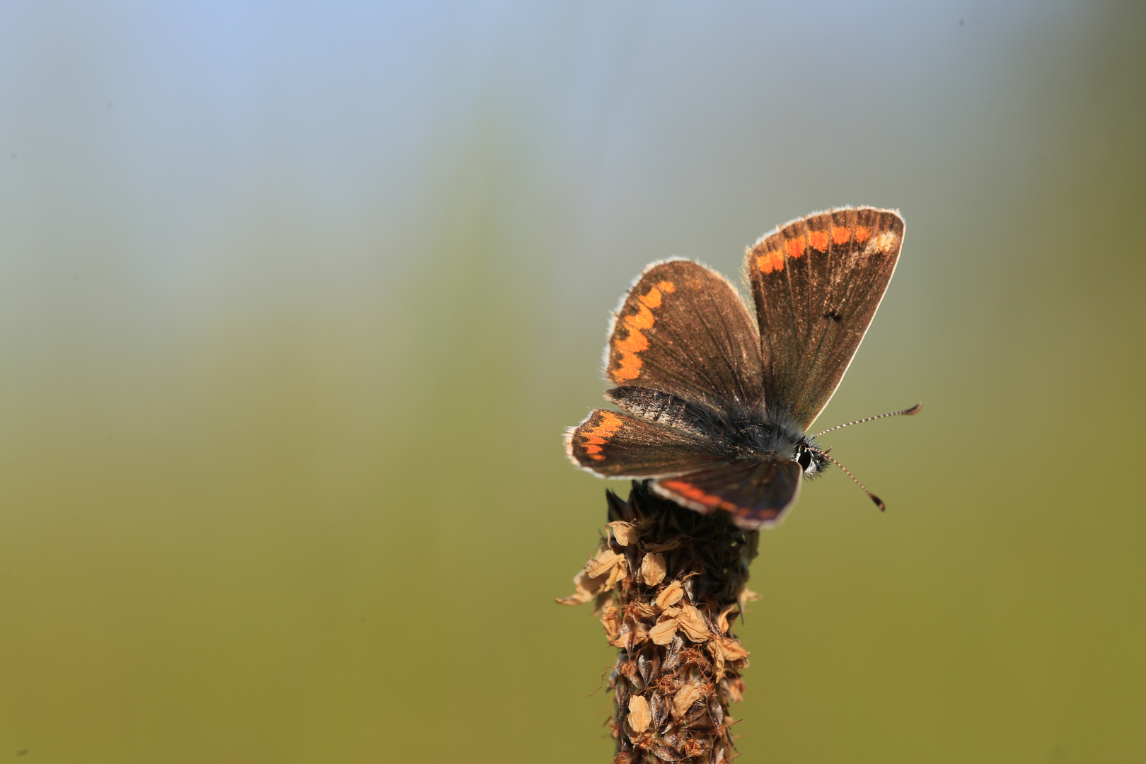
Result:
M898 207L744 762L1146 761L1141 3L0 7L0 761L607 762L609 310ZM623 483L612 486L626 489Z

